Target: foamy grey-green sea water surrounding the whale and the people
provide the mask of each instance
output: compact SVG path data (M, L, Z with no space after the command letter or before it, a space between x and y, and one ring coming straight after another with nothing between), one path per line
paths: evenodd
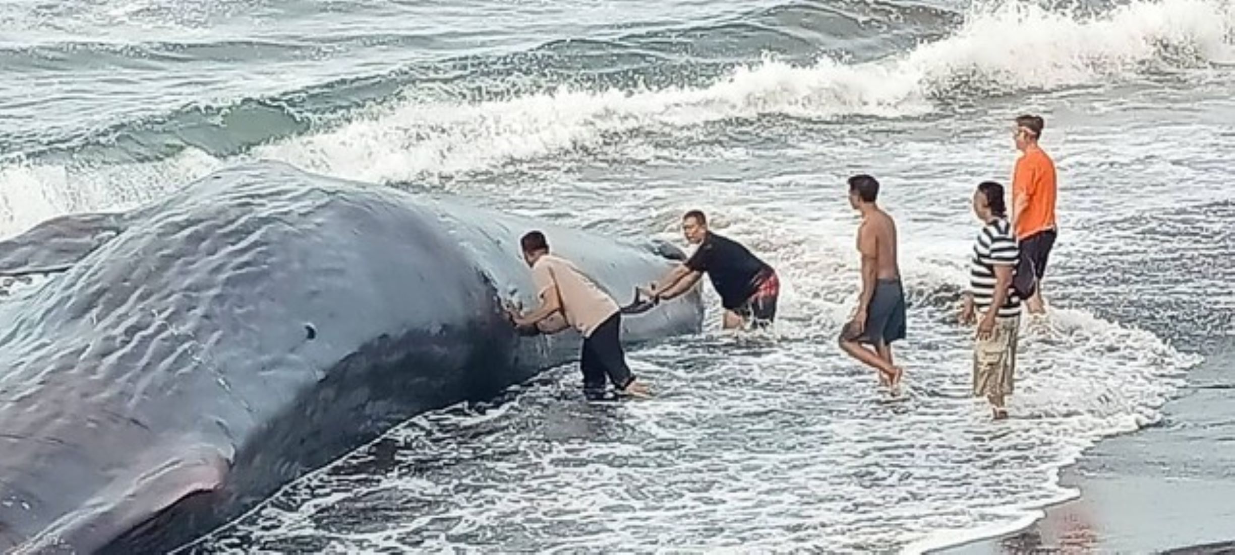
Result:
M680 240L699 207L782 276L772 337L573 365L417 417L195 553L916 553L1026 525L1057 474L1161 418L1235 335L1235 5L955 1L0 4L0 237L242 160ZM1013 418L967 396L952 314L1010 120L1060 170L1051 316ZM835 335L860 285L845 178L897 218L908 398ZM552 238L550 238L552 240Z

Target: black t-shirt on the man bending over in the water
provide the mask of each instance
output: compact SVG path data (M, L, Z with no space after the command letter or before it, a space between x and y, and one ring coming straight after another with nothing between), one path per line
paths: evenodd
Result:
M720 303L737 308L758 289L757 279L772 266L760 260L737 242L708 232L699 249L687 260L687 268L706 271Z

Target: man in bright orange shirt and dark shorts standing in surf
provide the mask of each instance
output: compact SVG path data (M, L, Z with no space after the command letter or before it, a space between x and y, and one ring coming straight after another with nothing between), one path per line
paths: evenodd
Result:
M1042 276L1046 274L1046 261L1055 247L1055 163L1037 146L1045 122L1040 116L1020 116L1013 136L1021 157L1016 160L1013 173L1013 226L1016 240L1020 243L1020 263L1016 275L1021 280L1034 279L1029 287L1032 291L1026 300L1029 312L1046 312L1042 303ZM1020 280L1018 280L1020 281Z

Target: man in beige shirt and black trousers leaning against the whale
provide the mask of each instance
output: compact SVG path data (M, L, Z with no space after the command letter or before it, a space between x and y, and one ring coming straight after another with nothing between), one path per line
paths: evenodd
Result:
M621 393L647 396L647 386L637 381L626 365L619 337L621 311L618 302L569 260L550 254L543 233L529 232L519 243L524 260L532 269L541 306L527 316L510 311L515 326L536 326L561 313L566 323L583 335L579 369L583 370L583 392L588 400L604 398L605 376ZM564 327L546 332L561 329Z

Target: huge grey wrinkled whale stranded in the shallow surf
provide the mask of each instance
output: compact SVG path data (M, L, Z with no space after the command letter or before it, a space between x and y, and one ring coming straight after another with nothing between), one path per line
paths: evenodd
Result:
M680 252L258 162L0 243L0 551L151 553L200 536L406 418L576 360L516 333L542 229L619 302ZM624 318L698 333L698 291Z

